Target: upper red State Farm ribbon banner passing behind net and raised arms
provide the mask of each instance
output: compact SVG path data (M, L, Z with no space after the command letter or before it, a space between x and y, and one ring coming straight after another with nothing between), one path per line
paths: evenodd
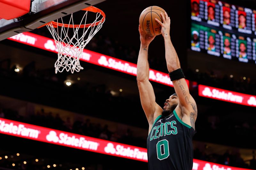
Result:
M29 33L29 32L20 33L8 39L23 43L29 46L33 46L36 48L41 48L47 51L58 53L58 48L56 47L56 44L53 39L43 37L34 33ZM56 55L56 60L57 60L57 55ZM112 70L120 71L126 74L130 74L133 76L137 75L137 64L126 62L124 60L120 60L107 55L102 55L100 53L96 53L90 50L84 49L83 55L80 58L80 60L84 62L96 64L102 67L106 67ZM52 65L54 65L54 63L52 63ZM173 84L169 78L169 75L167 73L163 73L157 70L150 69L149 80L173 87ZM186 81L188 84L189 81L188 80Z

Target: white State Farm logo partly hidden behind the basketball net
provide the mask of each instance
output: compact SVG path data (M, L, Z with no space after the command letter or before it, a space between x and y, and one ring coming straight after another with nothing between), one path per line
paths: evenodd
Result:
M69 47L64 47L61 43L58 43L58 46L56 46L54 41L52 40L47 40L46 43L44 43L44 48L49 49L51 51L55 51L55 52L58 52L59 49L61 49L60 51L66 51L67 53L69 53L69 55L76 54L76 52L72 50L72 48L70 50ZM64 52L63 54L66 54L66 53ZM89 61L91 56L92 56L91 54L83 52L80 59Z

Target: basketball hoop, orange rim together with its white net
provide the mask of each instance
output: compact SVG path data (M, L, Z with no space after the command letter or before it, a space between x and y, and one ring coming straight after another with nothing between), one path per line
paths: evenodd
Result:
M74 25L73 13L70 14L68 24L64 24L61 17L56 22L52 21L46 25L58 48L58 60L54 64L55 73L62 72L64 69L70 70L71 73L84 69L80 66L79 59L83 56L84 47L102 27L106 16L103 11L93 6L83 9L83 11L85 14L78 25ZM96 19L91 24L86 24L88 11L96 13ZM70 29L73 30L71 31L73 35L70 35ZM82 32L81 29L83 34L78 35Z

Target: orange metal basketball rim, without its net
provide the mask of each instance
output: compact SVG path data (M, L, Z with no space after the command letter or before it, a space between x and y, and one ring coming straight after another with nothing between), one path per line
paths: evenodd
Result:
M103 23L104 22L104 20L105 20L105 18L106 18L106 15L105 15L105 13L103 12L103 11L101 11L99 8L96 8L96 7L94 7L94 6L89 6L89 7L87 7L87 8L84 8L84 9L82 9L82 11L90 11L90 12L95 12L95 13L98 13L98 12L100 12L100 14L102 15L102 19L100 20L100 21L97 21L97 22L95 22L95 23L91 23L91 24L83 24L83 25L72 25L72 24L63 24L63 23L57 23L57 22L55 22L55 21L51 21L51 22L49 22L49 23L47 23L47 24L45 24L45 25L43 25L43 26L46 26L46 25L49 25L49 24L51 24L52 23L52 26L54 27L54 28L57 28L58 26L64 26L64 27L66 27L66 28L76 28L76 27L79 27L79 28L88 28L89 26L97 26L97 25L99 25L100 23ZM43 26L40 26L40 27L43 27ZM39 28L40 28L39 27Z

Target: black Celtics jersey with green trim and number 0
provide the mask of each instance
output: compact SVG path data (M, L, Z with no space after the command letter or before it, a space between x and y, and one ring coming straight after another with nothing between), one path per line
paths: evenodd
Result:
M195 130L182 122L176 111L156 118L148 135L149 170L191 170L193 167L192 137Z

